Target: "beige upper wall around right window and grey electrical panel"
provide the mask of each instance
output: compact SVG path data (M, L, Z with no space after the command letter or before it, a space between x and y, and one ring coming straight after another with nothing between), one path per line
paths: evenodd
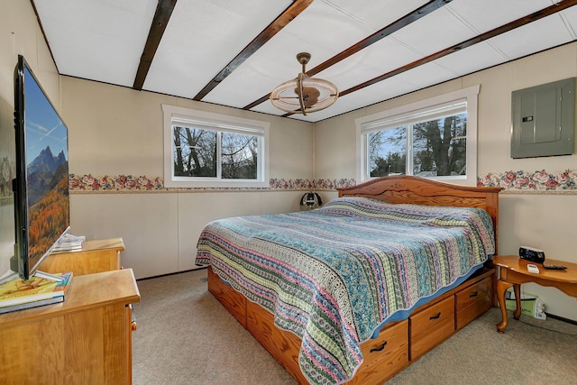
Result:
M315 178L356 177L355 119L477 84L481 85L478 175L503 170L574 170L577 166L575 154L551 158L511 159L509 135L510 99L513 90L575 76L577 42L319 122L315 126Z

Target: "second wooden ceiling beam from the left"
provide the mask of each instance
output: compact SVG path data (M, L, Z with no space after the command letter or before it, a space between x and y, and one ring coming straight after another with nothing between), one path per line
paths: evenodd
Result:
M220 84L227 76L229 76L234 69L237 69L244 60L249 59L254 52L261 49L274 35L292 22L299 14L301 14L308 5L311 5L313 0L295 0L282 14L279 15L272 23L270 23L257 37L255 37L244 49L236 55L236 57L228 63L224 69L213 78L193 100L202 100L210 91Z

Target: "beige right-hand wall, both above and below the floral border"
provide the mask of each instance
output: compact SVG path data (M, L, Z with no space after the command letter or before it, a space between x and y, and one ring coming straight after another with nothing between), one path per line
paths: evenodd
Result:
M478 176L488 173L577 169L577 154L547 158L511 159L511 92L577 76L577 42L525 59L362 108L315 125L315 178L356 178L357 135L354 120L408 105L465 87L481 85L478 118ZM545 250L550 258L577 262L572 238L577 229L577 194L511 194L499 198L499 253L517 254L520 245ZM524 285L543 299L546 311L577 320L575 298L556 289Z

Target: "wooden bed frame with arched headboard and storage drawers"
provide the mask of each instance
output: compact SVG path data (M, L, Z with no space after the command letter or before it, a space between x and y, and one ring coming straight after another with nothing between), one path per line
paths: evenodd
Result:
M497 238L501 188L470 188L418 177L394 176L337 189L339 197L371 197L389 203L429 206L479 207L490 214ZM459 287L415 309L408 319L386 325L377 338L361 345L364 360L353 380L347 383L376 384L389 380L495 306L494 271L489 263ZM269 311L224 283L211 268L208 268L208 290L299 383L308 383L298 365L301 340L297 335L279 329Z

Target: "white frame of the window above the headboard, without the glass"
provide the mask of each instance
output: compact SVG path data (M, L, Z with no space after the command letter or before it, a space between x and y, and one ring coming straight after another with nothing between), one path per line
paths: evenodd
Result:
M480 85L463 88L441 96L435 96L409 105L402 105L390 110L382 111L355 119L357 131L357 180L364 182L378 177L371 177L368 170L368 143L367 137L371 132L385 128L398 127L404 124L415 124L418 119L425 117L435 118L438 111L450 111L459 104L466 105L467 137L466 137L466 175L425 177L448 183L477 186L477 117L478 96ZM407 143L407 175L412 175L412 142ZM410 156L409 156L410 154ZM409 167L410 166L410 167Z

